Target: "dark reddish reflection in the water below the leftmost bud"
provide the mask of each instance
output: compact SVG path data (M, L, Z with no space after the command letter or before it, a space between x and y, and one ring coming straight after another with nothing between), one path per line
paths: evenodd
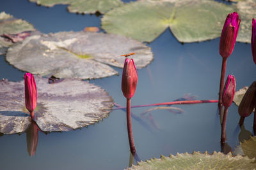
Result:
M38 126L33 120L26 131L26 136L28 154L29 156L33 156L36 153L36 146L38 143Z

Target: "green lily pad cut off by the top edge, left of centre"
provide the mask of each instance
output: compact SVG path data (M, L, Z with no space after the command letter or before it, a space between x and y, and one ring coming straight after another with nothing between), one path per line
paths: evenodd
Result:
M122 5L121 0L29 0L43 6L52 7L56 4L68 4L68 11L74 13L106 13L106 11L116 8Z

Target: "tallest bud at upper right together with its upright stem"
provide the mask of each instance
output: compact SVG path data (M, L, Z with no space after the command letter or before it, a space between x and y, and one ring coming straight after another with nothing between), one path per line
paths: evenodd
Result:
M222 66L221 66L221 77L220 77L220 92L219 92L219 110L222 110L222 98L224 88L224 80L225 80L225 72L227 65L227 58L233 52L237 33L240 25L239 15L236 12L229 13L225 24L223 25L223 29L220 37L220 55L222 57Z

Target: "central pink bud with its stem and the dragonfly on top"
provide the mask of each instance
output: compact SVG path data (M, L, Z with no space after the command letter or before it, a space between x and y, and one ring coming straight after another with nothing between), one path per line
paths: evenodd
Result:
M132 53L131 55L133 55ZM122 55L128 57L128 55ZM138 74L133 60L126 58L124 62L124 69L122 74L122 92L127 99L126 103L126 118L127 118L127 131L129 138L129 145L132 155L136 153L133 136L132 136L132 123L131 123L131 98L134 96L136 85L138 81Z

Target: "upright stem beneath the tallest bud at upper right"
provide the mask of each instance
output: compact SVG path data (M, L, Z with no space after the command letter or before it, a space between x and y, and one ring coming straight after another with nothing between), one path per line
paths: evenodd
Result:
M227 65L227 57L222 57L222 66L221 66L221 74L220 74L220 92L219 92L219 103L218 103L219 113L221 113L221 110L223 108L222 93L223 93L224 84L225 84L226 65Z

